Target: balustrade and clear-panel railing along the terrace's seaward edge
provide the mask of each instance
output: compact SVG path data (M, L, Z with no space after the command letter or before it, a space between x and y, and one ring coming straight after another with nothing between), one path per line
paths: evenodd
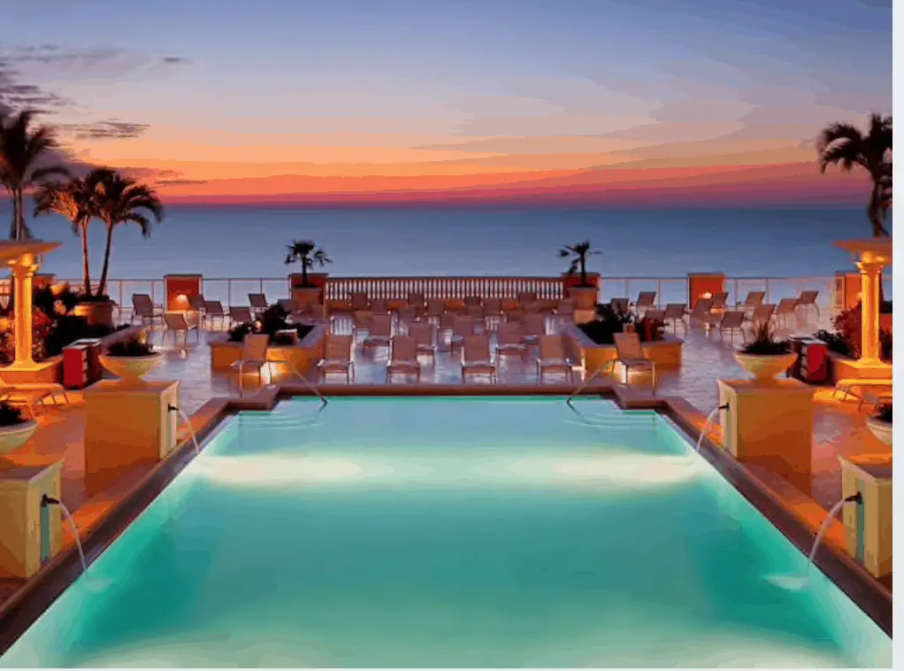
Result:
M78 279L58 279L58 282L80 288ZM799 296L801 291L818 291L820 310L832 310L836 290L834 277L813 278L740 278L727 277L725 291L729 305L742 302L749 291L765 291L764 302L777 303L782 298ZM883 277L886 298L892 296L890 276ZM563 295L563 283L556 277L384 277L339 278L330 277L326 285L326 299L330 302L346 301L354 291L363 291L369 298L404 300L410 293L422 293L426 298L462 299L466 296L484 298L517 298L518 294L535 291L542 300L557 300ZM606 303L612 298L636 300L641 291L655 291L656 304L689 303L688 279L682 278L615 278L599 279L599 300ZM288 298L287 278L204 278L204 298L219 300L224 307L247 306L248 294L262 293L270 303ZM157 304L165 303L164 279L111 279L108 294L121 309L131 310L134 294L149 294Z

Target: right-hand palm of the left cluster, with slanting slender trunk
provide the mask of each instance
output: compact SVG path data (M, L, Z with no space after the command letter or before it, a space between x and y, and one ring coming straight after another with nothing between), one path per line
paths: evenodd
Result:
M113 232L117 226L127 222L141 226L141 234L149 237L151 221L146 210L157 223L164 219L164 205L155 191L146 184L120 175L109 168L96 168L87 177L91 201L96 216L107 227L107 247L104 250L104 264L100 269L100 281L96 296L107 295L107 276L110 265L110 250L113 248Z

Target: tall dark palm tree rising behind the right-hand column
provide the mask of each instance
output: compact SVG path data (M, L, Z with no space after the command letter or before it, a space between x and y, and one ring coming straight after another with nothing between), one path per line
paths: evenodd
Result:
M860 165L870 174L872 187L866 215L873 237L888 236L884 222L891 207L891 117L872 114L866 135L852 124L831 124L819 134L816 151L823 173L832 164L845 172Z

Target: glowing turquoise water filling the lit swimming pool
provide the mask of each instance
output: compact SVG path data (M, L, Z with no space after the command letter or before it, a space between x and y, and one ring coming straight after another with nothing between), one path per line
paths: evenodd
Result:
M653 412L284 402L229 421L3 666L890 666Z

